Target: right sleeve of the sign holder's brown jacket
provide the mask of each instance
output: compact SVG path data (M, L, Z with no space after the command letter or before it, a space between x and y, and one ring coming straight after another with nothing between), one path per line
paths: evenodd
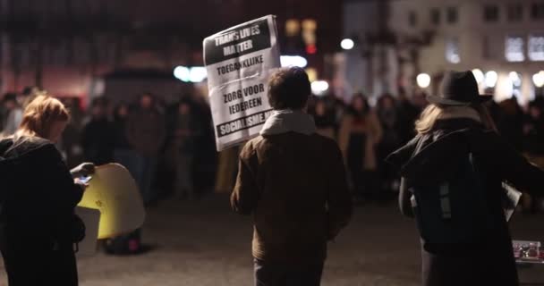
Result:
M330 168L330 181L327 193L328 239L333 240L350 222L353 214L353 201L347 186L344 158L336 144Z

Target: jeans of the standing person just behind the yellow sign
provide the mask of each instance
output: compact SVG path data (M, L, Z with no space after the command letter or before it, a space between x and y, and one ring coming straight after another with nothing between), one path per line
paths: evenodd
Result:
M157 159L149 156L141 156L136 151L129 149L115 149L115 162L123 164L140 189L144 204L148 204L157 198L157 194L152 189Z

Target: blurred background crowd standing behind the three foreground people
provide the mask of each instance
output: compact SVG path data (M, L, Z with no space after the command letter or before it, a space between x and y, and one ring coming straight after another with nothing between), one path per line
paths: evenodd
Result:
M13 134L21 122L22 106L39 94L25 88L20 94L6 94L0 109L0 130ZM69 166L81 162L123 164L137 180L144 201L174 196L200 198L215 189L228 193L234 186L239 148L214 152L211 114L206 103L182 97L165 105L150 93L138 102L106 97L92 100L87 111L77 99L64 98L72 114L58 144ZM428 104L425 94L407 97L384 94L370 105L364 94L353 95L349 103L327 95L311 97L308 112L317 132L335 139L342 150L355 201L388 201L395 198L399 181L385 157L415 134L413 123ZM497 130L516 150L544 164L544 98L521 106L515 97L488 104ZM210 177L215 180L208 180ZM539 200L525 202L537 211Z

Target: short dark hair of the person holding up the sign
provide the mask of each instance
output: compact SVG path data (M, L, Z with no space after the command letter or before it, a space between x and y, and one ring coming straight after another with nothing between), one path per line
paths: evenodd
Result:
M302 109L310 94L308 74L298 67L276 71L268 81L268 102L274 109Z

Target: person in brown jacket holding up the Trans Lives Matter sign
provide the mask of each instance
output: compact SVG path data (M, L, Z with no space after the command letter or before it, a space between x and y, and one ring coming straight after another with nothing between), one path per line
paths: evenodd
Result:
M319 285L327 241L352 215L342 153L316 133L304 111L309 95L305 71L277 71L268 91L274 113L240 155L231 205L253 216L259 286Z

